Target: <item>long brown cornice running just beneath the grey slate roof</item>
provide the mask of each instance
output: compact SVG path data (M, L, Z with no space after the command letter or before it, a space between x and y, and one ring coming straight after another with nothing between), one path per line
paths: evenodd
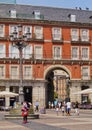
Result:
M92 23L79 23L79 22L70 22L70 21L49 21L49 20L35 20L35 19L0 18L0 23L92 28Z

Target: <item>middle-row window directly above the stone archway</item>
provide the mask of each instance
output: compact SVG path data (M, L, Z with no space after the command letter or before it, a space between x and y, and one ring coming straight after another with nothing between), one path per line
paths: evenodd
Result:
M53 58L61 59L61 47L60 46L53 47Z

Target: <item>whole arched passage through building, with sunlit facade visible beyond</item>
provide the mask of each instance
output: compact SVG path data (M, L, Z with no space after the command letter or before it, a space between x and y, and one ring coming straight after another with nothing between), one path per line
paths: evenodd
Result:
M71 77L71 72L65 66L52 65L48 67L44 72L44 78L48 81L46 88L46 106L49 102L58 100L64 100L69 97L69 86L67 84L68 79Z

